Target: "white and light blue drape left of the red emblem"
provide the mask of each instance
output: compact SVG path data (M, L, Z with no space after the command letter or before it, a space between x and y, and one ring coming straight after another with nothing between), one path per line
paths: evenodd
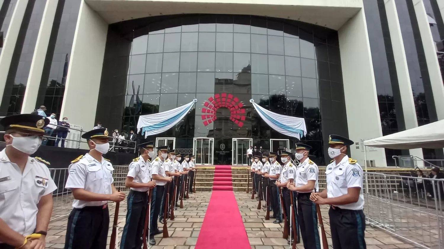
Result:
M142 132L142 135L147 137L168 130L181 121L195 103L197 99L166 112L140 116L137 122L137 133Z

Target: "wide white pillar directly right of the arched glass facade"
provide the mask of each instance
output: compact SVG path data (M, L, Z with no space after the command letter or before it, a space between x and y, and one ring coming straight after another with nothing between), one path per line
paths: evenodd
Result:
M359 142L380 137L381 118L363 8L339 29L338 36L349 138ZM353 159L364 167L361 146L352 145L350 149ZM368 151L367 160L375 160L377 167L387 166L383 148Z

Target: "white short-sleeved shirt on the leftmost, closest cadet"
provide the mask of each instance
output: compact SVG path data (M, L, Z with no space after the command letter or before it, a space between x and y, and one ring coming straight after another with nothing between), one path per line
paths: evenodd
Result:
M47 164L28 157L22 173L6 156L5 149L0 152L0 218L12 230L21 235L33 233L40 198L56 189Z

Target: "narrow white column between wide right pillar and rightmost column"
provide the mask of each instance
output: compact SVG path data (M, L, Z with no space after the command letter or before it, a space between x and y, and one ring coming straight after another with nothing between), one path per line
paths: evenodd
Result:
M393 57L395 58L405 128L411 129L418 126L418 120L416 118L415 103L413 101L412 86L410 84L410 74L408 73L404 40L402 39L398 12L396 11L396 0L385 0L385 12L387 13L387 21L389 23L390 39L392 42ZM420 148L411 149L409 152L410 155L420 158L424 157L422 149ZM418 164L419 167L422 165L422 162L421 165Z

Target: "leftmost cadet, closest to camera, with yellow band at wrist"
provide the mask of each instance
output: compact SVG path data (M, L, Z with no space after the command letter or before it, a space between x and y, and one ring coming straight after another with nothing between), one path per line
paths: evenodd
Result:
M0 121L6 142L0 152L0 249L45 247L52 191L57 186L49 163L29 155L42 144L42 128L48 123L49 119L32 114L12 115Z

